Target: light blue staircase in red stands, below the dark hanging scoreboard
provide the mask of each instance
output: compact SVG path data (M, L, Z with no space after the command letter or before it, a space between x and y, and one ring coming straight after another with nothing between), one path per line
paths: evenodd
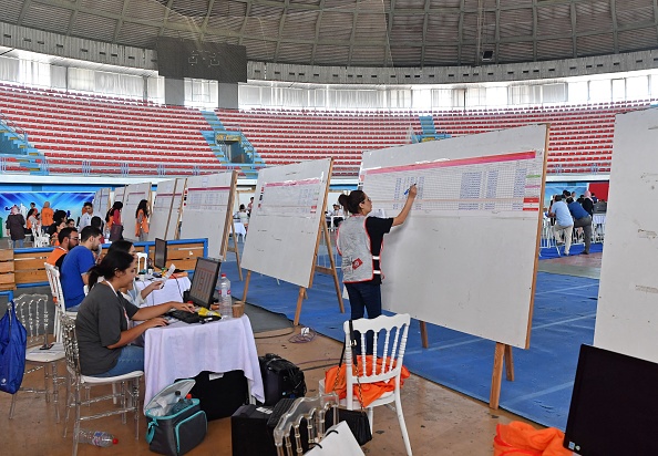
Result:
M213 127L212 131L202 131L202 135L208 143L210 149L213 151L213 154L215 154L215 156L223 164L229 166L233 165L234 167L238 168L241 172L240 174L244 174L245 178L258 178L258 168L264 167L265 163L263 162L263 158L260 158L260 155L258 155L258 153L254 148L254 145L243 134L243 132L226 129L219 117L217 117L217 115L212 111L202 111L202 115L204 116L208 125ZM238 139L237 151L234 147L233 155L244 155L244 163L232 163L227 157L226 152L228 152L228 148L232 147L232 145L234 145L236 141L226 142L223 145L219 145L217 141L218 136L224 136L226 138L235 137ZM228 143L230 143L230 145Z

